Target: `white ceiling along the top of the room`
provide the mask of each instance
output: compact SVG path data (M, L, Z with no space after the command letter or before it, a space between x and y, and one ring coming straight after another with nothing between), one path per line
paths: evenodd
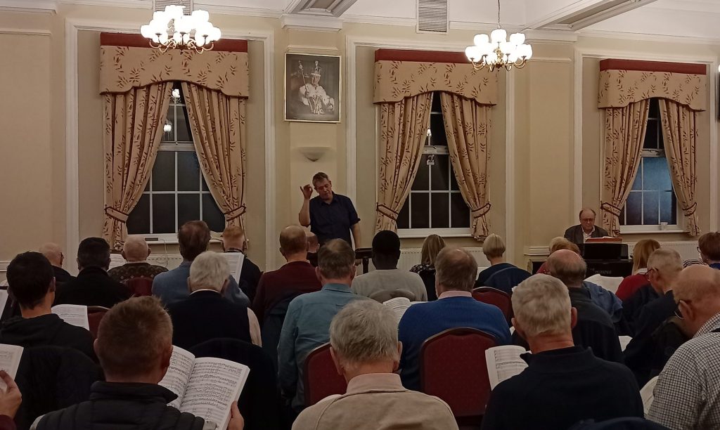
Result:
M418 0L195 0L211 13L312 18L415 26ZM692 37L720 42L720 0L501 0L508 29L552 29L589 35ZM152 0L0 0L0 10L57 9L58 4L107 4L144 9ZM328 6L318 9L318 5ZM615 6L608 10L608 6ZM451 29L485 29L497 22L497 0L448 0ZM322 24L321 24L322 25Z

